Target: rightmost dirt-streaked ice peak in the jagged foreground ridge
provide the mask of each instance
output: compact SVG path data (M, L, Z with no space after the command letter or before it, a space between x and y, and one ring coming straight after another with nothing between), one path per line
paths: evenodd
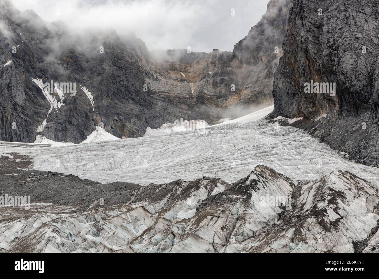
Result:
M357 241L377 231L378 191L366 180L333 171L300 186L296 206L280 222L225 251L354 253Z

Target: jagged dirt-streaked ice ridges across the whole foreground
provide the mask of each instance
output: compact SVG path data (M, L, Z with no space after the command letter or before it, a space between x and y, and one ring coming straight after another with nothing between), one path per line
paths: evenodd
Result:
M349 172L297 182L258 165L232 184L203 177L127 188L119 204L83 199L84 212L46 202L28 214L5 208L12 218L0 223L0 251L360 252L358 242L364 252L379 249L377 189Z

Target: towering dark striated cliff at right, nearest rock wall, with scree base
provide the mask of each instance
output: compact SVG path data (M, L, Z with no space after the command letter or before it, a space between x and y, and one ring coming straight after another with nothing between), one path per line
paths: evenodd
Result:
M309 132L368 165L379 163L377 22L374 0L294 0L273 85L274 116L328 114ZM335 94L306 92L312 81Z

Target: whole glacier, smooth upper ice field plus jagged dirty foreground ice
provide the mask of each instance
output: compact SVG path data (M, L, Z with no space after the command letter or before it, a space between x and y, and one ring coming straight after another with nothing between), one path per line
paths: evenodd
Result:
M0 251L375 252L379 169L263 114L130 139L97 127L76 145L1 142L0 164L31 172L37 201L2 209Z

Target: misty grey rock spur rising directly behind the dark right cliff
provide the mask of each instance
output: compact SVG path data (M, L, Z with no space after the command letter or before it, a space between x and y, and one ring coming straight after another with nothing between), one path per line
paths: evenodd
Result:
M233 50L233 66L241 86L238 103L272 103L274 72L282 56L292 0L271 0L267 12Z

